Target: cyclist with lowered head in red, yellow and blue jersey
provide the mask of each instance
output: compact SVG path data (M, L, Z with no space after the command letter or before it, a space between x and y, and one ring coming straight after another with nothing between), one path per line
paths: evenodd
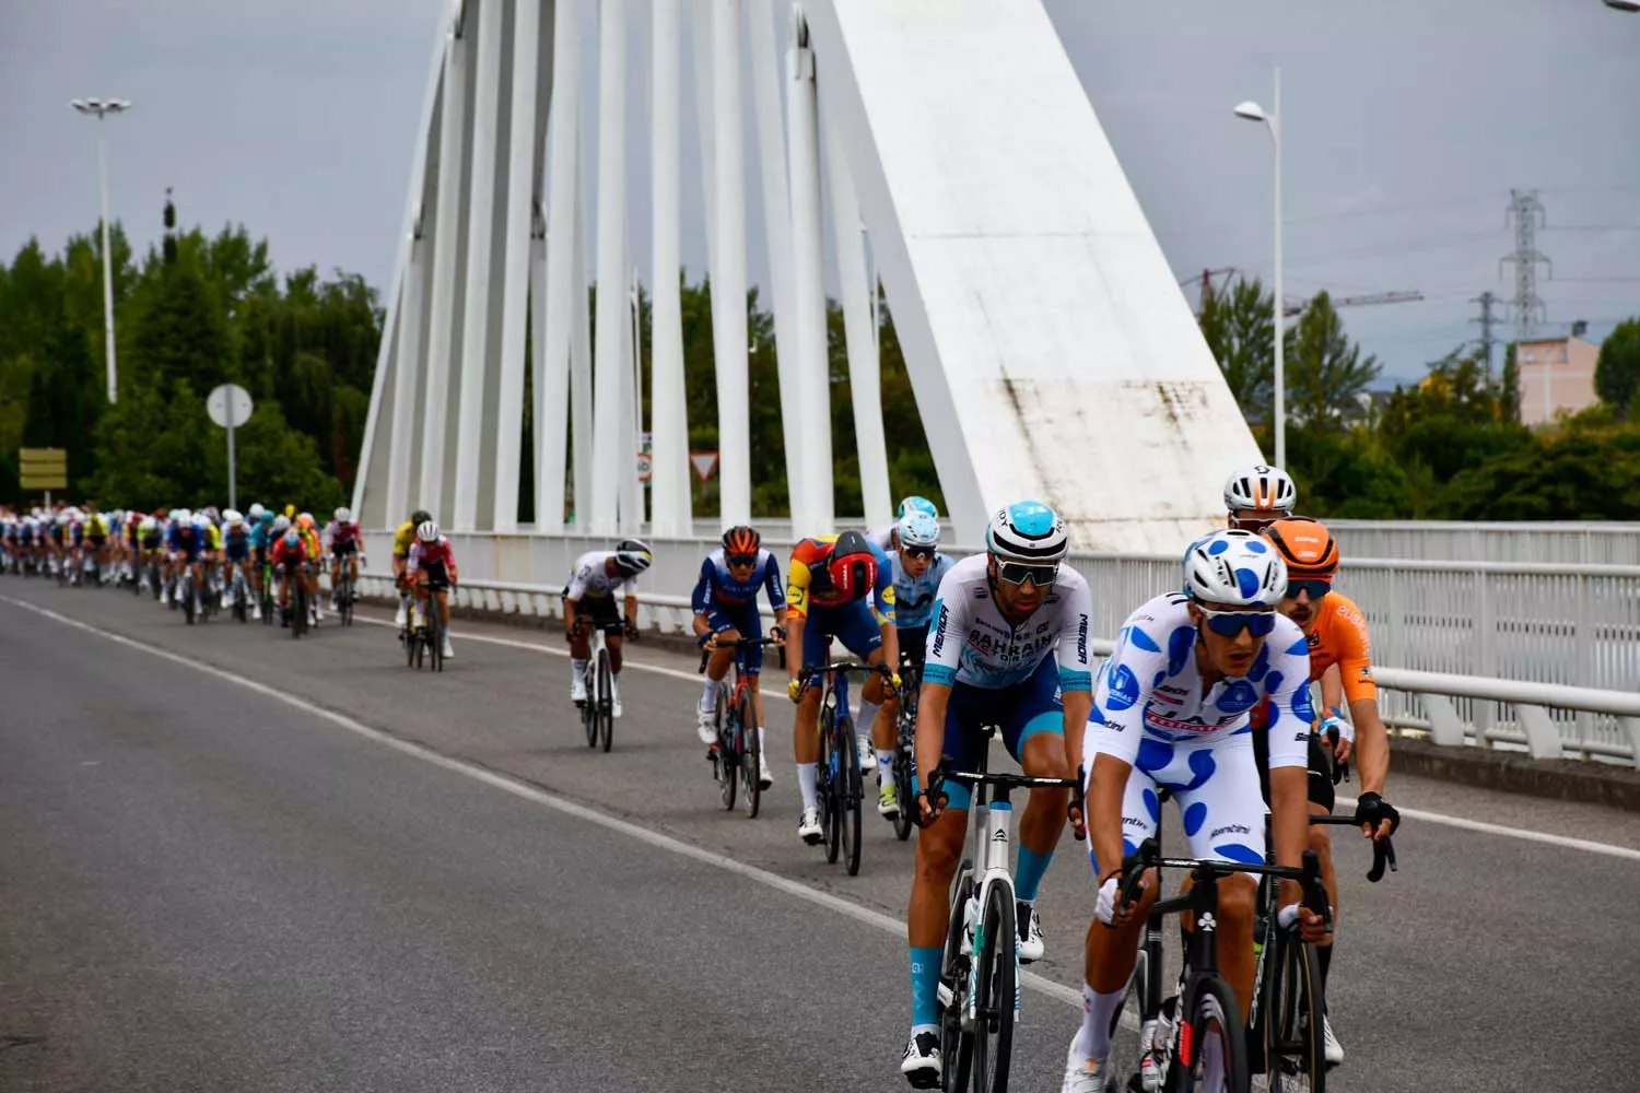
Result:
M786 693L797 703L792 728L792 752L797 760L797 788L804 811L797 818L797 836L813 846L820 841L820 698L823 688L810 687L802 677L804 665L830 660L831 641L868 664L899 664L899 636L894 629L894 577L881 547L858 531L840 536L800 539L792 547L786 577ZM900 685L895 672L892 685ZM859 723L872 726L872 736L892 741L894 719L879 708L887 688L881 675L861 687ZM877 723L882 728L877 728ZM892 780L889 782L892 788ZM884 801L879 798L877 811ZM884 813L891 814L891 813Z

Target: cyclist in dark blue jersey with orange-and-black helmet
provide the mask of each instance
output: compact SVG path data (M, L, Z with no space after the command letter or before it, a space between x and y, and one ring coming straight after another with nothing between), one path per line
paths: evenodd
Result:
M774 608L774 636L786 637L786 590L781 587L781 564L772 551L763 549L763 536L754 529L738 526L723 533L723 546L700 562L700 578L690 596L694 606L695 639L712 652L707 662L707 682L700 690L700 708L695 729L702 744L717 746L717 696L728 675L728 665L740 657L740 670L756 677L763 670L761 649L718 649L718 642L763 637L763 618L758 615L758 590L769 593ZM769 773L769 755L763 747L763 695L756 678L751 688L753 708L758 714L758 754L761 765L758 782L768 790L774 778Z

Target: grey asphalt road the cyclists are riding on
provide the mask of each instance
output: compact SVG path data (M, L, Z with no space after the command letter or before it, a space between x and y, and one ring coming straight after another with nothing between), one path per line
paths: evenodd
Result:
M0 580L0 1090L904 1088L912 847L872 823L850 878L797 841L784 700L748 821L692 659L635 651L604 755L561 642L454 637L435 677L382 626ZM1435 816L1383 885L1340 849L1332 1088L1632 1086L1640 816L1391 790ZM1058 1088L1084 862L1066 836L1014 1088Z

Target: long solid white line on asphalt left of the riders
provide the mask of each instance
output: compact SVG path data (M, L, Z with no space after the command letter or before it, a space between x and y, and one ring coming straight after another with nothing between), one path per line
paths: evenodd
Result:
M223 680L226 683L235 683L235 685L243 687L246 690L256 692L257 695L262 695L266 698L272 698L274 701L282 701L287 706L292 706L292 708L300 710L300 711L303 711L307 714L320 718L321 721L330 721L336 728L346 729L348 732L353 732L356 736L362 736L367 741L372 741L372 742L380 744L384 747L390 747L395 752L402 752L402 754L410 755L413 759L420 759L423 762L433 764L435 767L443 767L444 770L451 770L454 773L466 775L466 777L472 778L474 782L482 782L484 785L492 787L495 790L502 790L503 793L512 793L513 796L523 798L526 801L533 801L536 805L544 805L544 806L548 806L551 810L556 810L559 813L564 813L567 816L574 816L577 819L584 819L587 823L599 824L600 828L607 828L610 831L617 831L617 832L620 832L623 836L628 836L631 839L638 839L640 842L648 842L649 846L658 847L661 850L667 850L671 854L677 854L681 857L687 857L687 859L692 859L695 862L702 862L704 865L713 865L717 869L722 869L727 873L735 873L735 875L745 877L748 880L754 880L759 885L764 885L768 888L774 888L776 891L784 891L786 895L797 896L799 900L807 900L809 903L813 903L817 906L823 906L823 908L827 908L830 911L836 911L838 914L845 914L845 916L848 916L848 918L851 918L851 919L854 919L858 923L864 923L866 926L874 926L874 927L881 929L886 934L892 934L892 936L897 936L897 937L904 937L905 936L905 923L902 923L899 919L894 919L894 918L889 918L887 914L882 914L881 911L872 911L871 908L861 906L858 903L851 903L851 901L848 901L848 900L845 900L841 896L835 896L835 895L831 895L828 891L820 891L818 888L810 888L809 885L804 885L800 882L790 880L787 877L781 877L779 873L771 873L766 869L758 869L756 865L748 865L745 862L736 862L735 859L727 857L723 854L713 854L712 850L705 850L702 847L692 846L692 844L684 842L681 839L674 839L671 836L659 834L658 831L649 831L648 828L640 828L638 824L628 823L625 819L617 819L615 816L608 816L607 813L600 813L600 811L597 811L594 808L587 808L585 805L579 805L576 801L566 800L563 796L558 796L556 793L548 793L546 790L543 790L540 787L528 785L525 782L518 782L518 780L510 778L510 777L507 777L503 773L497 773L494 770L485 770L482 767L474 767L474 765L469 765L467 762L464 762L461 759L451 759L449 755L440 755L438 752L435 752L435 751L431 751L428 747L423 747L420 744L412 744L410 741L399 739L397 736L392 736L390 732L384 732L380 729L371 728L371 726L364 724L362 721L354 721L348 714L336 713L335 710L326 710L323 706L318 706L315 703L307 701L305 698L297 698L295 695L289 695L289 693L285 693L285 692L282 692L279 688L269 687L266 683L257 683L256 680L248 680L248 678L244 678L241 675L235 675L233 672L226 672L226 670L218 669L218 667L215 667L212 664L205 664L202 660L194 660L190 657L184 657L182 654L171 652L169 649L157 649L154 646L144 646L143 642L133 641L131 637L126 637L123 634L113 634L110 631L98 629L98 628L92 626L90 623L82 623L82 621L72 619L72 618L69 618L66 615L57 615L56 611L51 611L48 608L38 606L34 603L26 603L23 600L13 600L10 596L0 596L0 601L10 603L10 605L18 606L18 608L23 608L25 611L33 611L34 615L41 615L44 618L49 618L54 623L61 623L64 626L72 626L74 629L82 629L87 634L95 634L98 637L112 641L115 644L126 646L128 649L136 649L138 652L146 652L146 654L149 654L153 657L159 657L161 660L171 660L172 664L180 664L182 667L194 669L195 672L203 672L205 675L212 675L212 677L215 677L218 680ZM366 621L374 621L374 619L366 619ZM390 623L387 623L387 624L390 626ZM471 639L471 636L469 636L469 639ZM528 646L526 642L510 642L510 641L505 641L505 639L489 639L489 641L497 641L497 642L502 642L502 644L517 644L517 646L523 646L526 649L544 649L544 646ZM672 672L676 675L684 675L682 672L676 672L674 669L666 669L666 672ZM686 678L689 678L689 677L686 675ZM1041 975L1036 975L1033 972L1023 972L1020 975L1020 982L1025 986L1030 986L1032 990L1035 990L1035 991L1038 991L1041 995L1046 995L1048 998L1056 998L1056 1000L1059 1000L1059 1001L1063 1001L1066 1005L1077 1006L1077 1008L1081 1008L1081 1005L1082 1005L1082 995L1081 995L1079 990L1073 990L1073 988L1069 988L1069 986L1066 986L1063 983L1055 983L1053 980L1043 978Z

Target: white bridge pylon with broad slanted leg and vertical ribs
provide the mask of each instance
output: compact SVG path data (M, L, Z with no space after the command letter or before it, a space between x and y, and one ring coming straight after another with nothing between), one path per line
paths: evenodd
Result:
M686 48L699 210L682 208ZM628 95L648 97L646 133L628 133ZM630 141L648 146L646 192L628 185ZM686 216L707 234L720 518L766 515L751 511L748 156L800 533L835 524L828 254L868 519L891 511L877 275L961 542L992 508L1040 497L1077 546L1173 551L1219 513L1225 467L1256 459L1040 3L453 0L385 295L359 518L390 526L420 505L459 531L517 531L526 456L538 533L689 536ZM636 218L651 243L648 423Z

